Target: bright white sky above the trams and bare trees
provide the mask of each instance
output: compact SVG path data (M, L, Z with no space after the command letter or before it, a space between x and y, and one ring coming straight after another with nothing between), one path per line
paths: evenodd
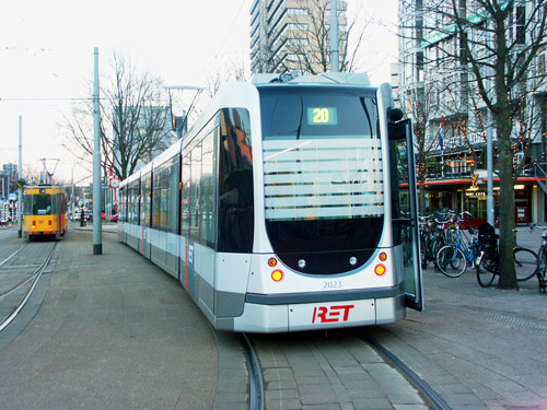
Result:
M100 71L114 50L166 85L203 86L228 60L248 67L252 0L0 0L0 165L19 164L22 116L23 172L54 172L54 181L91 181L84 164L62 145L63 116L90 98L94 47ZM389 81L395 62L397 0L348 0L374 17L360 49L374 83ZM186 93L186 92L185 92Z

